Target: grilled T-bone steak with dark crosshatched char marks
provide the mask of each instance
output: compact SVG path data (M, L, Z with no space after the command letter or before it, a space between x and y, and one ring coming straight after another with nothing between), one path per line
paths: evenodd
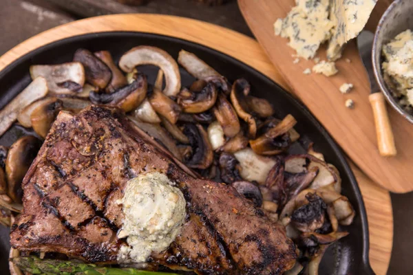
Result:
M281 225L235 188L197 179L118 109L61 112L23 180L23 213L12 247L60 252L90 263L116 263L123 211L116 200L129 179L149 171L178 183L187 221L151 265L198 274L282 274L295 245Z

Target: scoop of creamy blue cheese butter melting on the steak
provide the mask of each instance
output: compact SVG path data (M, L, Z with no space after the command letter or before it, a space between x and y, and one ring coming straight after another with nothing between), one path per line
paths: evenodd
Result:
M162 252L184 224L186 202L182 192L162 173L146 173L127 181L122 205L123 225L118 238L126 238L118 263L145 263L152 252Z

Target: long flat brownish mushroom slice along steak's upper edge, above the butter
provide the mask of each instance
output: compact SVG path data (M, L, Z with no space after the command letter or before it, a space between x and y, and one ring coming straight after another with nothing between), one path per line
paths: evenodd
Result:
M140 128L142 131L145 131L148 135L153 137L158 143L160 143L162 146L164 146L171 154L182 161L182 155L180 153L180 150L175 144L175 141L172 139L172 137L169 135L169 133L162 128L159 124L151 124L151 123L146 123L142 122L138 118L134 118L129 115L129 120L131 122L134 122L138 128Z

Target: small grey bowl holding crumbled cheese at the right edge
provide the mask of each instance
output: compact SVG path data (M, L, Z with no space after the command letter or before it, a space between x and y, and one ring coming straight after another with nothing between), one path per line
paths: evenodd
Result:
M381 63L383 56L381 49L383 45L389 43L397 34L410 29L413 30L413 0L395 0L389 8L384 12L377 26L376 34L374 35L372 60L374 76L385 98L398 113L403 115L410 123L413 123L413 115L405 111L398 100L392 96L392 91L383 79L383 71Z

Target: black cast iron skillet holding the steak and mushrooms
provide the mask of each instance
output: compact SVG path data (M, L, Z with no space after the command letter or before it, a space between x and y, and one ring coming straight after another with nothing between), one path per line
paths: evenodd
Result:
M224 39L224 38L223 38ZM76 49L84 47L92 52L109 50L117 61L120 56L136 45L153 45L169 52L177 58L181 49L193 52L211 67L226 76L230 81L246 78L252 87L253 95L266 98L275 106L275 115L283 118L288 113L294 115L298 123L295 129L301 134L299 144L290 149L291 153L305 153L309 142L315 142L315 150L320 151L326 160L334 164L343 179L343 195L346 195L357 212L352 225L344 228L350 234L329 248L320 265L320 274L374 274L368 262L368 223L366 209L354 175L339 147L328 135L326 129L317 122L311 113L290 96L282 87L240 61L208 47L168 36L140 32L103 32L74 36L45 45L3 69L0 72L0 109L30 83L29 67L33 64L57 64L72 61ZM242 45L240 45L242 47ZM149 83L155 80L158 69L153 66L140 68L148 76ZM181 69L183 85L190 85L193 78ZM303 81L297 79L297 81ZM13 126L0 144L10 146L20 135L30 133L20 126ZM8 229L0 226L0 273L8 274Z

